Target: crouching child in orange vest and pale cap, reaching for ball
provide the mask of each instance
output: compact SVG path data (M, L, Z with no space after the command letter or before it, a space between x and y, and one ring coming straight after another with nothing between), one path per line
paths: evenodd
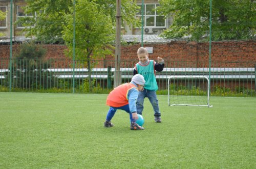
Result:
M110 106L110 109L106 115L104 127L114 126L113 123L111 123L111 119L114 117L116 110L121 109L130 115L131 130L144 130L143 127L136 123L136 120L138 119L136 101L139 90L143 88L144 84L144 77L140 74L136 74L133 76L130 83L124 83L110 92L106 99L106 104Z

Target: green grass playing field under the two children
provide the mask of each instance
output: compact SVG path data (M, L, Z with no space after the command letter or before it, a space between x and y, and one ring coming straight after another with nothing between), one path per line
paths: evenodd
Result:
M145 100L145 130L118 110L104 128L104 94L0 93L0 168L255 168L256 98L213 107Z

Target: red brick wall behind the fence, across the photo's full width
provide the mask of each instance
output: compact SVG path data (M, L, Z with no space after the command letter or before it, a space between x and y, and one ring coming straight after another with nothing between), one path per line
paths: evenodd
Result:
M121 60L134 60L136 63L138 61L137 49L140 46L140 44L122 46ZM44 45L44 47L47 49L46 59L70 61L65 57L64 50L67 49L65 45ZM144 47L153 47L150 59L155 60L158 56L162 57L166 61L166 66L169 67L208 67L209 43L177 41L167 44L145 44ZM14 44L13 55L17 48L18 44ZM254 67L256 63L256 43L252 40L212 42L211 49L212 67ZM0 45L0 59L6 59L6 61L0 60L0 67L8 62L9 55L10 45ZM109 56L105 60L114 60L114 57ZM61 62L58 65L68 66L69 63ZM241 63L246 64L243 66Z

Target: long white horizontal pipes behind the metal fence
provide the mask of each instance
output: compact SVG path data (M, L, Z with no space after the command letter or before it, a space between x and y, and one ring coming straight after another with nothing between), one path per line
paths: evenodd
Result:
M252 79L255 80L254 68L211 68L211 79ZM46 69L50 74L57 78L73 78L73 68L51 68ZM121 78L132 78L133 68L120 68ZM0 69L0 79L6 78L3 73L9 72L9 69ZM114 78L115 68L93 68L91 70L91 77L98 79L107 79L108 73ZM209 77L209 68L164 68L162 72L156 72L157 79L168 79L170 76L189 77L193 75L200 75ZM87 68L75 68L75 78L87 78Z

